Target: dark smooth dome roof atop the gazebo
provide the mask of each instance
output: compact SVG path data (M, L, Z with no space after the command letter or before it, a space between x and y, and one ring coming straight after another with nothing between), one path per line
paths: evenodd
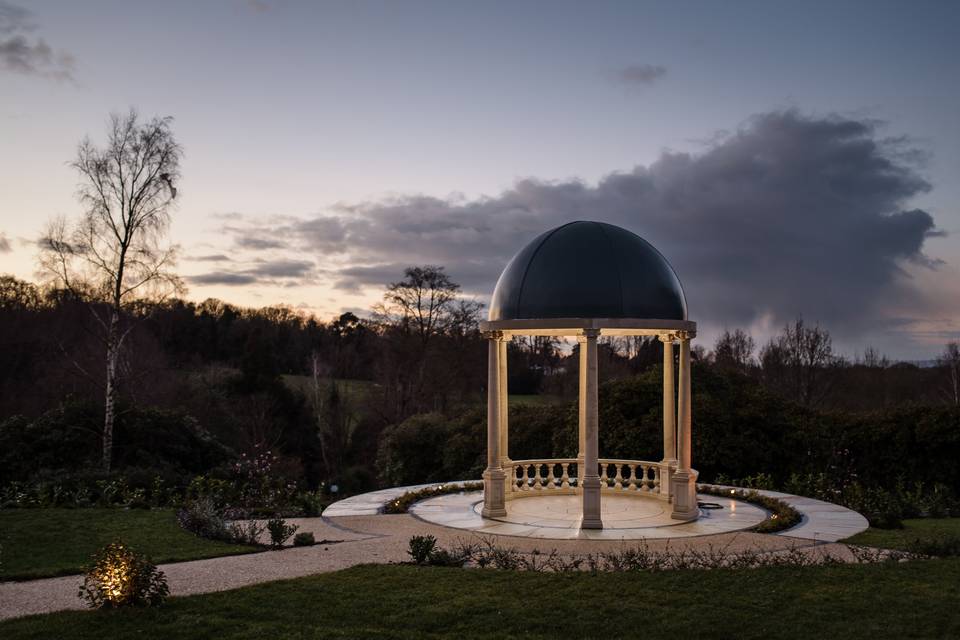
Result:
M635 233L571 222L537 236L507 264L490 320L686 320L687 302L667 259Z

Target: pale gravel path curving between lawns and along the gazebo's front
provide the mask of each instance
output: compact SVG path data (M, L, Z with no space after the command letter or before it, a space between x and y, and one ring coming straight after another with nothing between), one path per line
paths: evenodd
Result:
M312 547L161 565L171 595L224 591L270 580L337 571L358 564L402 562L409 559L408 542L414 535L432 534L441 546L479 539L477 534L430 524L407 514L294 518L289 522L299 525L300 531L312 532L318 541L328 542ZM536 540L509 536L497 536L496 541L501 546L520 551L557 549L565 554L612 551L625 544L619 541ZM810 541L748 532L680 540L651 540L647 546L652 550L725 548L729 551L776 551L803 547L809 553L830 551L834 555L849 554L846 547L840 544L814 545ZM79 582L79 576L67 576L0 583L0 619L82 609L84 605L77 597Z

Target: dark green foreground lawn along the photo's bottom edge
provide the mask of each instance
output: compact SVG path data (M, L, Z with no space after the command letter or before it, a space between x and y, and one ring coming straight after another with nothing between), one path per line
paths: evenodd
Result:
M156 610L0 623L20 638L956 638L960 559L663 573L368 565Z

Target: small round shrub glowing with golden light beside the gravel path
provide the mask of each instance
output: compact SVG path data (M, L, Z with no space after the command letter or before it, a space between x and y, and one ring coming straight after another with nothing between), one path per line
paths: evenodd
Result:
M169 593L163 572L118 541L94 555L77 595L92 608L101 609L159 605Z

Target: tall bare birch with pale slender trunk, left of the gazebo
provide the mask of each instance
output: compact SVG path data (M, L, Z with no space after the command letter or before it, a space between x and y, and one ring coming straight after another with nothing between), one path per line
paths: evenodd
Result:
M137 112L110 116L107 143L84 139L71 166L80 174L84 207L73 224L50 223L41 242L40 264L56 286L89 300L102 329L106 385L102 465L109 471L120 377L120 354L130 326L125 307L135 296L182 290L173 273L176 247L162 245L180 177L182 149L171 118L141 122Z

